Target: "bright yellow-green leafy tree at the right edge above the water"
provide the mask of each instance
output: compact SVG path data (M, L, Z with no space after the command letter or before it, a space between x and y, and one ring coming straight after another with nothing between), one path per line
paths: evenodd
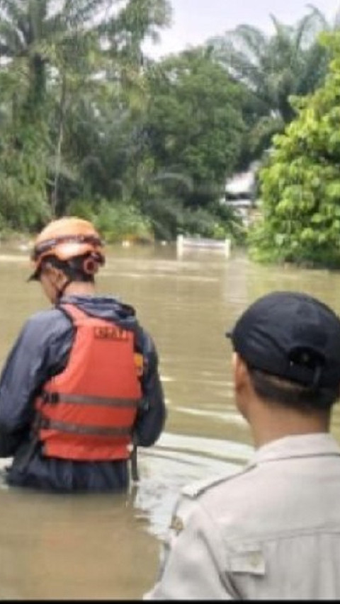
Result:
M274 138L260 173L262 219L251 232L259 260L340 266L340 33L324 86L295 98L297 118Z

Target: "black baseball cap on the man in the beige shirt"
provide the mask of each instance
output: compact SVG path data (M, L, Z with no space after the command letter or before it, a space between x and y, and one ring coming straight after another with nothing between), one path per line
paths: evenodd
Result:
M310 387L340 384L340 319L300 292L271 292L227 331L249 367Z

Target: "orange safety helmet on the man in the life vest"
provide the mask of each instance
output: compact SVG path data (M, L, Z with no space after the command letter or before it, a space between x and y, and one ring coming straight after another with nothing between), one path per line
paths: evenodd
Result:
M105 262L103 242L91 222L75 216L52 220L35 239L30 256L34 272L28 280L38 278L42 260L46 256L67 261L89 252L96 256L99 264Z

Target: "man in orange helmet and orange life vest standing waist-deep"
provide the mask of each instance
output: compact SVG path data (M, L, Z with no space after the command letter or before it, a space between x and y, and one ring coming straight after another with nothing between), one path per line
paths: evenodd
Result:
M129 483L128 458L164 428L157 350L135 309L98 296L105 262L91 222L47 224L33 274L53 308L30 317L0 379L0 457L8 484L107 491Z

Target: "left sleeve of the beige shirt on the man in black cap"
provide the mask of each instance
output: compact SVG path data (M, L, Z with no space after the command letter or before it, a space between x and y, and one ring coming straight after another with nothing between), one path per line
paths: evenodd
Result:
M159 579L144 600L234 599L222 576L220 536L196 501L179 505L162 553Z

